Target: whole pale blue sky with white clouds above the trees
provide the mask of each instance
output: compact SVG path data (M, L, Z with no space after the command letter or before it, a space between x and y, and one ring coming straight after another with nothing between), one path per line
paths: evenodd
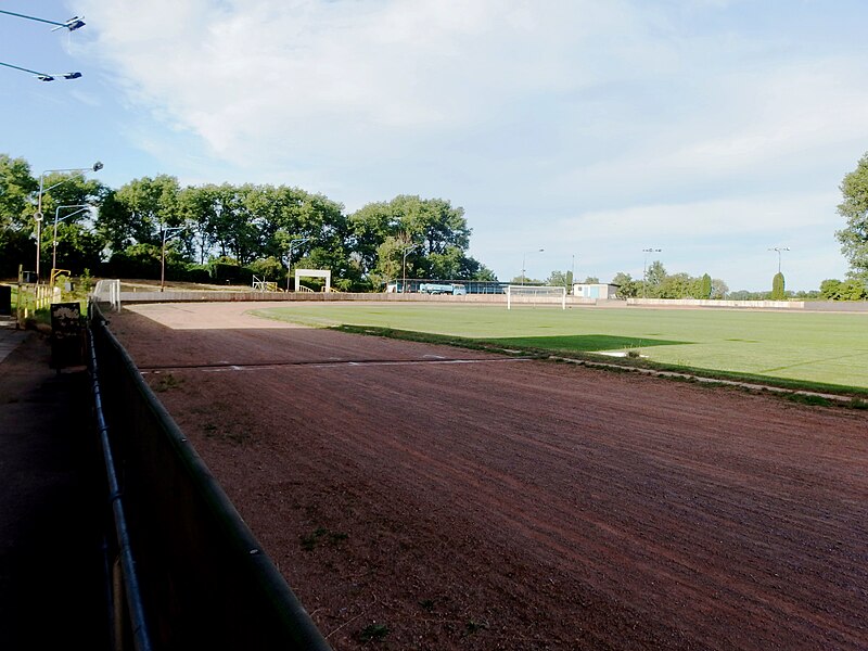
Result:
M113 188L445 199L500 280L843 279L864 0L0 0L0 153ZM647 252L644 250L654 250ZM775 251L777 248L778 251ZM540 251L541 250L541 251ZM660 250L659 252L656 250ZM788 251L786 251L788 250Z

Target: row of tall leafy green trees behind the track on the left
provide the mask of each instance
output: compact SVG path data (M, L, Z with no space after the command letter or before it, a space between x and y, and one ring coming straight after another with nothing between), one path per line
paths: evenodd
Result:
M39 177L0 154L0 277L35 268ZM400 195L347 215L298 188L245 183L181 187L159 175L115 190L80 174L42 178L40 276L52 267L114 278L282 282L288 269L331 269L344 291L411 278L497 280L468 255L464 212ZM82 205L93 209L80 209ZM56 239L54 231L56 229ZM56 258L56 264L54 259Z

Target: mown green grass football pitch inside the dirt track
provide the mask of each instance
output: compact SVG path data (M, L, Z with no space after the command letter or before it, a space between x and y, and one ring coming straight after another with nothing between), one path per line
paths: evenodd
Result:
M642 359L669 368L868 390L868 314L310 303L254 314L309 326L384 328L552 353L638 350Z

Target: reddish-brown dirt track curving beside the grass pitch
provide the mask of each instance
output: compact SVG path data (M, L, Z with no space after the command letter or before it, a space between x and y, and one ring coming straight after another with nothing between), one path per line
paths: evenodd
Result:
M251 307L112 330L334 649L868 649L868 413Z

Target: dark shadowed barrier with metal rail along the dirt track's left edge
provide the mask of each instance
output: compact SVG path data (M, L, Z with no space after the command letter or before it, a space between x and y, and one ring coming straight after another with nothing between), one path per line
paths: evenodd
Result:
M124 618L118 648L331 651L99 304L89 312L106 465L117 469L117 485L110 482L116 520L123 498L114 582L123 585L113 587L115 603L125 605L115 611Z

